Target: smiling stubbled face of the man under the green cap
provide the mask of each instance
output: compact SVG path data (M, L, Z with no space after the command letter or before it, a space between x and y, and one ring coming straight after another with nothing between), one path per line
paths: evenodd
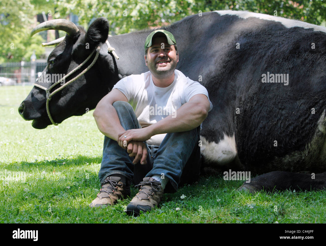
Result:
M177 62L179 55L176 54L174 46L168 44L166 37L153 38L152 46L147 51L147 59L145 57L149 71L157 78L165 78L174 73Z

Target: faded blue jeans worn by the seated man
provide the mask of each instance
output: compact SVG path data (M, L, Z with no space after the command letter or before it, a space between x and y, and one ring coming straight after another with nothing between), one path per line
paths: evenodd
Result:
M141 128L129 103L117 101L113 103L113 107L125 130ZM164 192L176 192L179 184L190 184L199 178L201 164L199 140L200 126L189 131L168 133L159 146L146 144L147 164L141 165L138 162L133 165L134 157L129 157L126 149L105 136L98 177L102 184L106 177L120 174L137 185L144 177L164 174L170 181Z

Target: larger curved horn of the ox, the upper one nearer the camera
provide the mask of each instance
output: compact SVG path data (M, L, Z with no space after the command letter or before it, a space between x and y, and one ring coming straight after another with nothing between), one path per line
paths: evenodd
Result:
M31 36L44 30L61 30L65 31L69 36L79 33L78 27L73 22L65 19L56 19L38 24L33 28Z

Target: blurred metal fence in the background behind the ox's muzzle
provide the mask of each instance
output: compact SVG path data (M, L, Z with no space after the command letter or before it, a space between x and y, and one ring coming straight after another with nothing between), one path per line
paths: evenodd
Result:
M0 77L10 78L17 85L33 84L46 65L46 62L3 63L0 64Z

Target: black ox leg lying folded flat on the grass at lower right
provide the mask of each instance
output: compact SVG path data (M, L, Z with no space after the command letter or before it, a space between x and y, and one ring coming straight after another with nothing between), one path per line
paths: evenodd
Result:
M250 183L244 183L238 190L254 193L259 190L322 190L326 188L326 172L319 174L304 174L285 171L274 171L252 178Z

